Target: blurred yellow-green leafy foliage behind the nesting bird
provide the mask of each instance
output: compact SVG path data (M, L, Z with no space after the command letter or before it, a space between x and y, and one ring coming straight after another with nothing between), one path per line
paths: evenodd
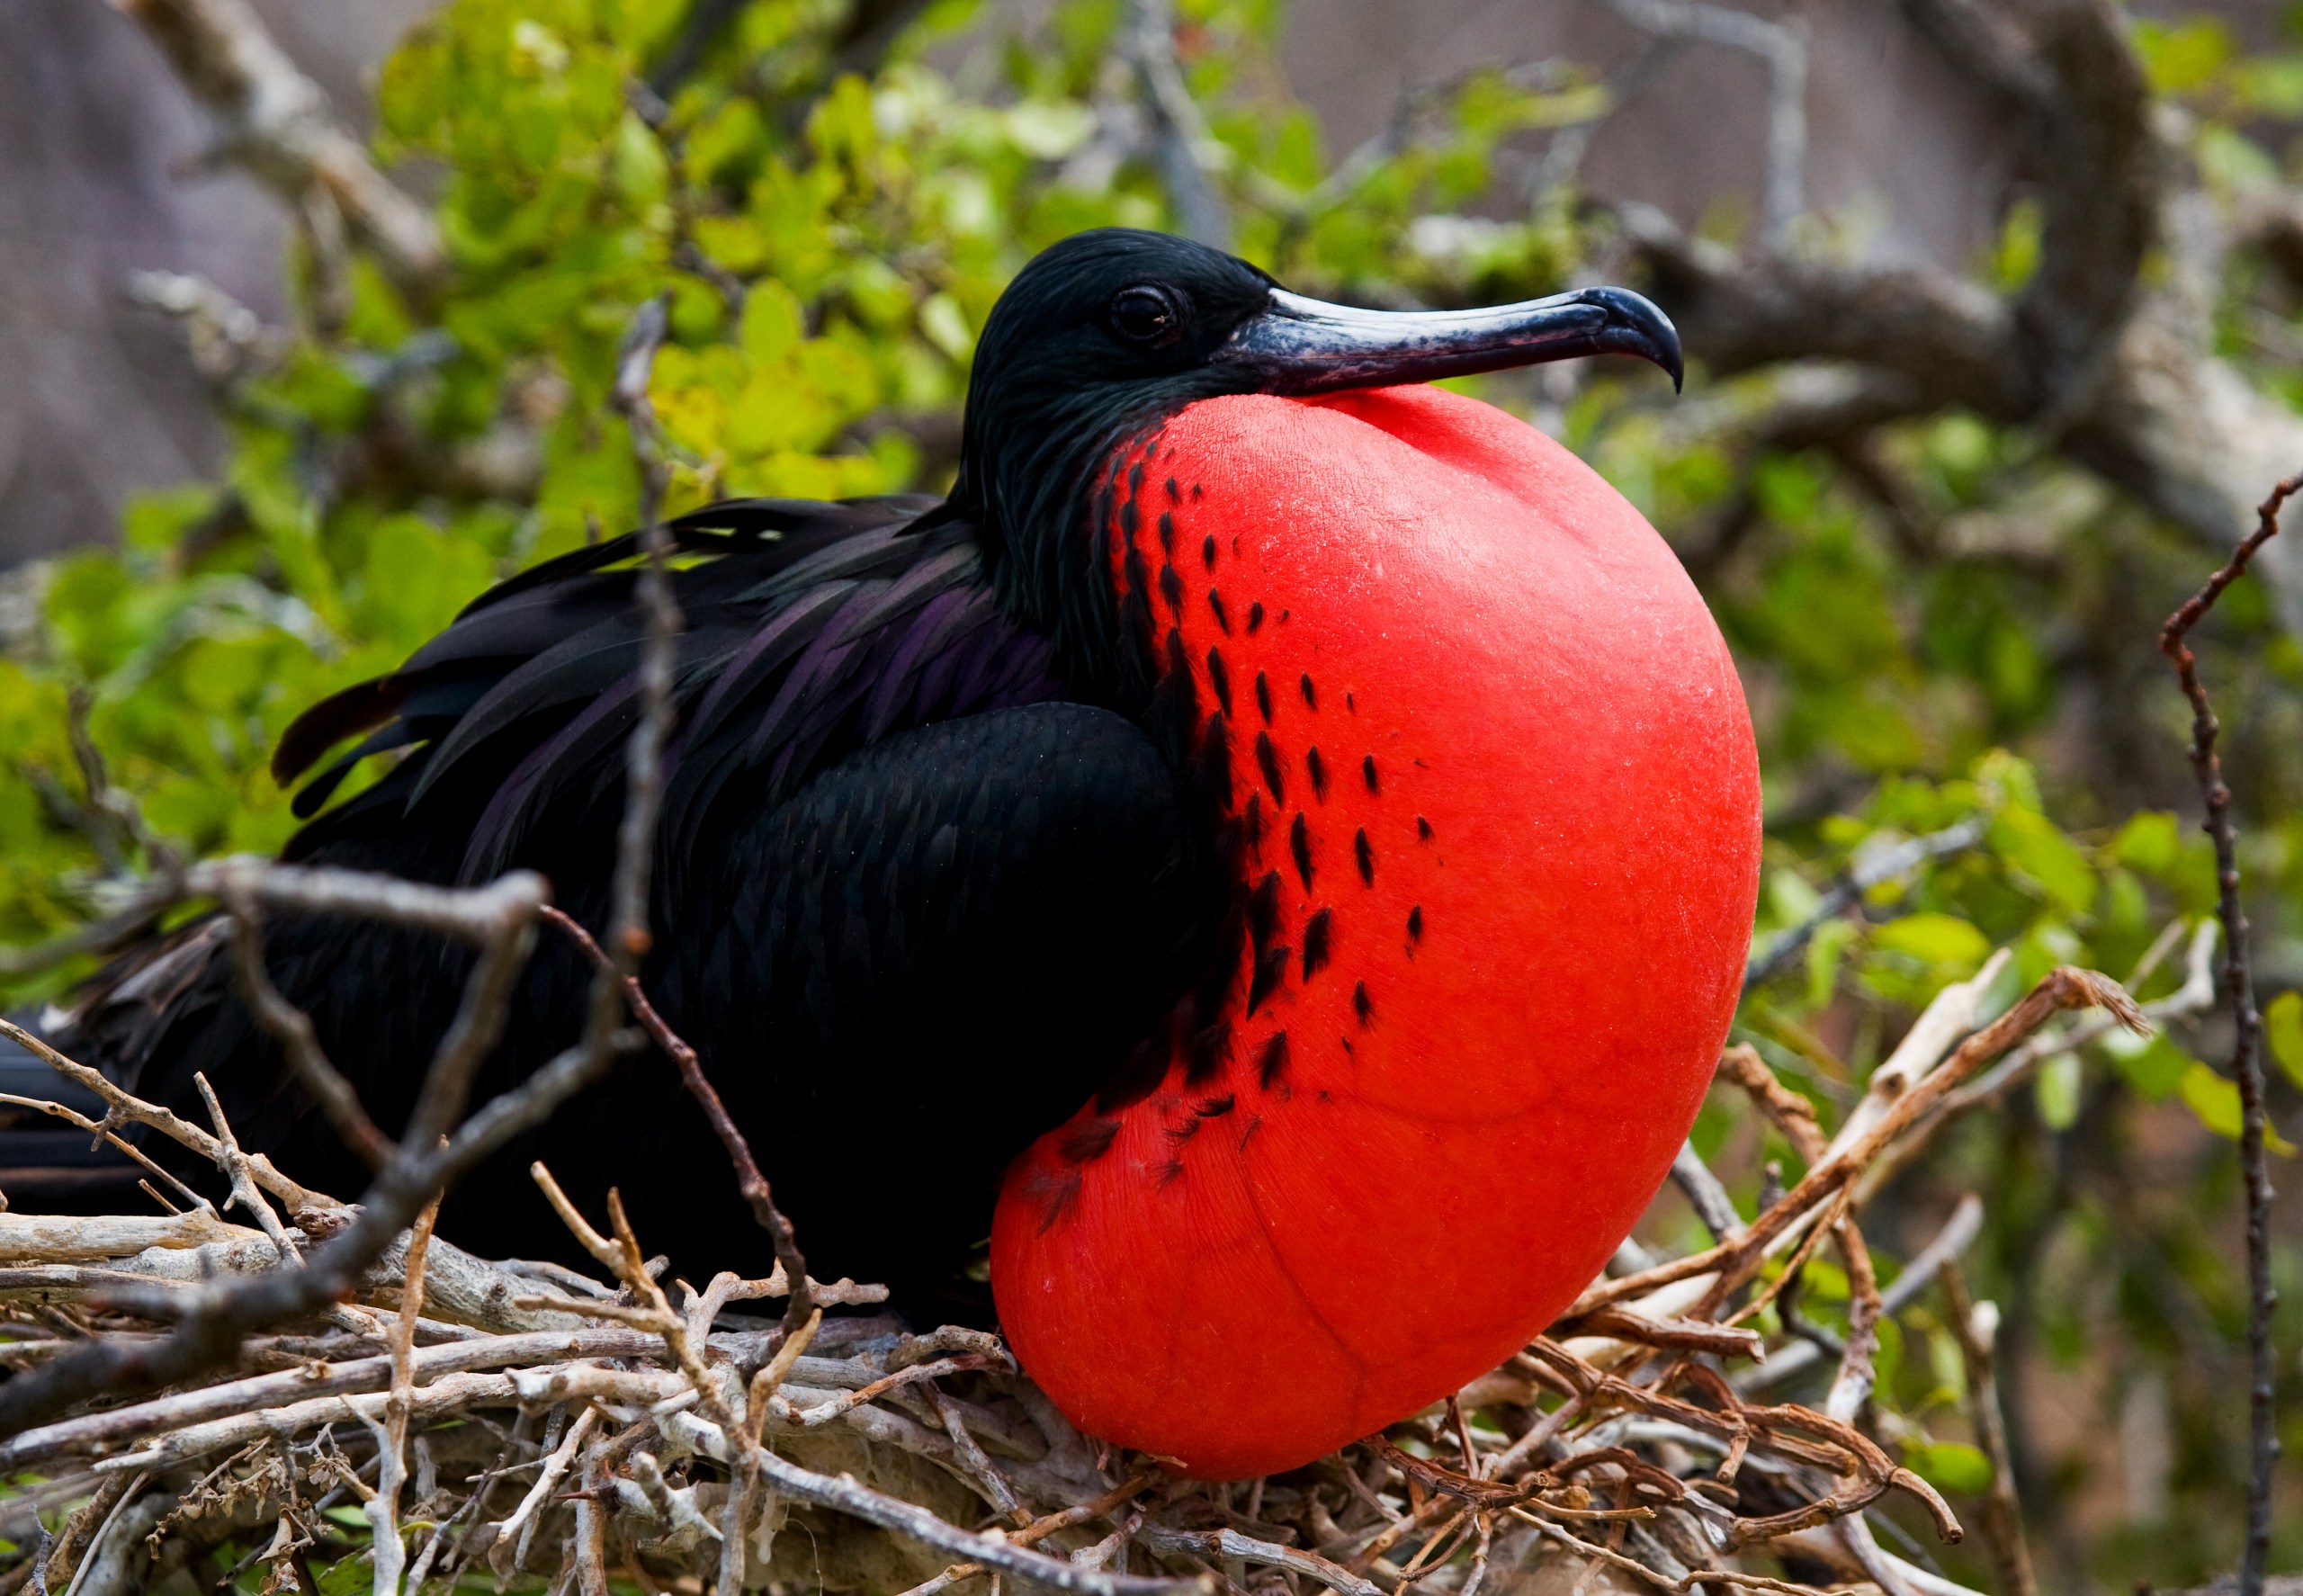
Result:
M302 707L396 666L491 580L624 530L638 477L606 394L649 297L670 304L654 403L675 509L940 488L1002 283L1078 228L1170 221L1128 134L1112 0L1066 0L1016 37L940 5L868 74L836 64L845 0L751 0L656 104L633 83L686 9L449 0L387 62L378 152L438 196L447 281L410 297L366 260L332 279L297 253L297 322L230 392L219 481L145 495L117 548L30 578L39 624L0 656L0 942L83 921L113 868L74 822L88 799L74 693L154 831L196 854L272 850L295 822L265 758ZM1573 193L1522 203L1497 182L1545 129L1605 108L1594 76L1479 71L1428 92L1403 138L1352 154L1276 88L1269 0L1179 12L1239 249L1283 281L1474 304L1550 292L1598 258L1605 223ZM2271 124L2303 117L2303 53L2245 55L2199 21L2137 23L2135 41L2156 90L2192 113L2183 136L2213 182L2243 189L2280 168ZM1730 196L1713 230L1739 233L1743 214ZM2020 290L2040 226L2038 205L2011 205L1976 276ZM2241 288L2234 348L2245 316L2287 313L2243 306ZM2303 398L2291 371L2250 368ZM2215 877L2206 841L2165 808L2188 785L2151 636L2197 580L2197 550L2045 463L2034 440L1967 415L1886 428L1861 458L1746 458L1734 421L1773 405L1776 373L1697 371L1690 398L1711 408L1709 431L1658 385L1612 373L1564 405L1525 375L1472 387L1548 419L1702 583L1766 774L1755 947L1810 926L1822 894L1882 850L1978 820L1978 843L1872 887L1743 1002L1736 1039L1826 1124L1909 1018L1994 949L2011 963L1987 1011L2063 963L2133 974L2146 1000L2183 983ZM2294 721L2275 696L2303 684L2303 654L2252 583L2232 590L2202 647L2232 693L2225 753L2248 811L2257 924L2278 951L2266 967L2296 972L2303 735L2280 735ZM62 990L88 967L0 997ZM2239 1310L2206 1230L2229 1214L2218 1138L2236 1133L2236 1092L2199 1057L2213 1039L2107 1032L1953 1138L1944 1191L1987 1195L1976 1267L2034 1350L2103 1368L2144 1347L2199 1366L2227 1356ZM2303 997L2271 997L2266 1041L2303 1089ZM2291 1101L2282 1085L2278 1108ZM1796 1163L1730 1094L1695 1140L1707 1156L1757 1149L1730 1170L1746 1209L1764 1158ZM2165 1202L2126 1179L2144 1140L2190 1149ZM2080 1260L2057 1276L2068 1290L2043 1287L2043 1260L2066 1255ZM2204 1310L2167 1306L2169 1292ZM1845 1276L1808 1262L1803 1301L1845 1322ZM1911 1310L1923 1340L1909 1345L1905 1327L1882 1327L1877 1400L1905 1426L1911 1467L1971 1495L1990 1465L1962 1439L1958 1347L1923 1315ZM2298 1329L2282 1322L2289 1368ZM2222 1525L2236 1446L2218 1449L2211 1423L2202 1435L2183 1490L2199 1522ZM2163 1573L2204 1578L2204 1557ZM334 1564L322 1584L339 1575L357 1582L357 1564Z

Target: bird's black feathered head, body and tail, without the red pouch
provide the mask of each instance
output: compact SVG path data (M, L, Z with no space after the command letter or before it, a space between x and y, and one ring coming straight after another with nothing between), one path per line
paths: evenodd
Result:
M1614 348L1677 371L1667 322L1617 290L1506 320L1331 316L1218 251L1087 233L1041 253L993 309L949 497L735 500L670 525L686 626L643 981L748 1131L818 1274L889 1280L924 1313L970 1313L974 1292L981 1310L960 1271L1009 1161L1082 1103L1099 1117L1062 1152L1101 1156L1119 1126L1110 1115L1177 1057L1191 1082L1221 1069L1241 958L1253 1002L1290 970L1278 875L1251 889L1241 864L1262 806L1232 776L1230 679L1209 654L1221 702L1200 702L1179 631L1156 622L1184 608L1170 562L1154 578L1128 539L1112 578L1112 530L1131 534L1147 504L1142 444L1218 394L1320 394ZM1175 477L1149 491L1165 493L1156 530L1172 550L1165 507L1184 493ZM1191 500L1202 495L1193 481ZM638 557L633 534L548 560L481 594L392 675L313 705L274 755L281 781L316 772L286 857L424 882L527 866L599 930L640 705ZM1214 567L1211 537L1200 557ZM1262 624L1251 603L1246 631ZM1262 672L1253 691L1269 725ZM1313 705L1308 677L1301 691ZM385 774L339 801L375 758ZM1269 732L1255 762L1285 801ZM1324 797L1317 758L1310 783ZM1290 852L1308 887L1301 815ZM364 1170L233 995L223 930L196 919L122 953L37 1029L191 1117L205 1073L244 1145L352 1195ZM378 1124L401 1126L470 951L274 914L265 953ZM1320 912L1303 972L1327 958ZM502 1089L567 1046L585 986L576 951L546 937L474 1089ZM1278 1034L1255 1059L1264 1087L1285 1062ZM12 1048L0 1085L58 1094ZM1246 1117L1241 1145L1257 1124ZM484 1165L451 1193L442 1232L500 1255L564 1255L527 1181L532 1158L592 1211L620 1184L640 1234L693 1269L769 1262L663 1059L626 1059ZM85 1154L85 1135L23 1128L0 1131L0 1165L9 1195L48 1200L101 1200L120 1172Z

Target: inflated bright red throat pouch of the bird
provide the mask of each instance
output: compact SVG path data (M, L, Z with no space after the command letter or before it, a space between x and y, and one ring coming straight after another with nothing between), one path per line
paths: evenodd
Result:
M1628 1234L1734 1013L1759 769L1672 550L1502 410L1207 398L1135 463L1112 580L1225 714L1244 942L1214 1064L1016 1161L993 1292L1082 1430L1244 1479L1497 1366Z

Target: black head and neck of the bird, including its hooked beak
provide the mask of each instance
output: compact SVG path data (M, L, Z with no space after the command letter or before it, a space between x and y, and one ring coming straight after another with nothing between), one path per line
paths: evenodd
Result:
M993 306L967 385L953 509L976 518L1002 590L1078 640L1094 631L1087 497L1119 451L1221 394L1313 396L1582 355L1681 378L1670 318L1626 288L1474 311L1363 311L1287 292L1257 267L1135 228L1041 251Z

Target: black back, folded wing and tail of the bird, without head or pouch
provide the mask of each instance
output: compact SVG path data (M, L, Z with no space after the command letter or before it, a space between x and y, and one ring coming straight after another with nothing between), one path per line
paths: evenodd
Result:
M1096 960L1140 937L1126 965L1170 970L1188 912L1170 781L1149 744L1066 702L1048 640L983 580L974 530L924 520L933 507L748 500L675 523L677 732L645 979L753 1126L801 1241L836 1271L942 1280L988 1232L1004 1161L1094 1087L1161 1002L1128 993L1172 981L1133 974L1115 993ZM527 866L599 930L638 716L636 555L626 537L502 583L398 672L306 712L276 774L341 753L297 795L309 824L286 857L442 884ZM378 753L398 765L322 808ZM1064 822L1055 848L1050 820ZM1145 894L1154 912L1131 914ZM1128 924L1110 928L1110 914ZM198 921L131 949L41 1029L184 1112L198 1115L205 1071L242 1140L355 1195L362 1168L233 995L221 933ZM396 1128L470 956L311 917L276 917L265 944L281 990ZM573 1039L583 983L576 953L546 937L481 1089ZM949 1179L981 1191L937 1211L921 1179L875 1161L933 1172L921 1128L965 1149ZM21 1175L60 1145L7 1152ZM468 1181L444 1232L562 1253L525 1179L534 1156L580 1198L622 1181L643 1232L654 1221L666 1244L679 1234L702 1267L765 1267L765 1239L663 1059L626 1062ZM9 1175L0 1188L16 1188Z

